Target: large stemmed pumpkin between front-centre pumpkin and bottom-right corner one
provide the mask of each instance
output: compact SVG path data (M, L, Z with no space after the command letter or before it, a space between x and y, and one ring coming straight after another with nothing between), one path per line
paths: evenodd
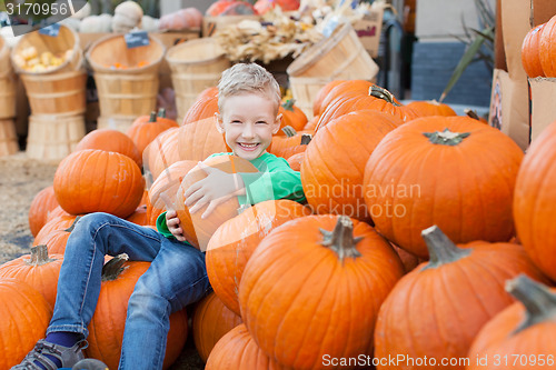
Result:
M480 328L514 300L504 290L507 279L527 273L544 279L523 248L476 241L458 248L437 227L424 231L430 260L394 287L380 307L375 331L375 356L424 359L438 366L467 356ZM464 369L461 362L444 369ZM429 369L423 363L379 370Z

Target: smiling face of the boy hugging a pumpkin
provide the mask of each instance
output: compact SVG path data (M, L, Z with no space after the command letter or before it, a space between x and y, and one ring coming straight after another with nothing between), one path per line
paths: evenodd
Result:
M272 134L280 129L278 107L272 99L246 92L227 97L221 114L216 114L218 131L240 158L252 160L265 153Z

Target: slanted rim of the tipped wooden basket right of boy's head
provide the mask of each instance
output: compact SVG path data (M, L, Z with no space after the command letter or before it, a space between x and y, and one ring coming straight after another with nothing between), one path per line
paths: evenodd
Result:
M296 77L305 72L311 66L314 66L318 60L322 59L330 50L334 49L339 41L341 41L349 32L353 30L351 24L341 23L338 24L334 33L315 43L311 48L302 52L298 58L296 58L286 69L288 76ZM320 50L318 50L320 49ZM318 50L318 52L317 52Z

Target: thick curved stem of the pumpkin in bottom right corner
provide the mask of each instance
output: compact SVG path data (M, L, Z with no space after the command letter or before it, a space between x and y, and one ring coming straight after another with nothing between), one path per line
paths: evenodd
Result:
M525 320L513 332L518 333L536 323L556 318L556 293L545 284L526 274L506 282L506 291L519 300L525 307Z

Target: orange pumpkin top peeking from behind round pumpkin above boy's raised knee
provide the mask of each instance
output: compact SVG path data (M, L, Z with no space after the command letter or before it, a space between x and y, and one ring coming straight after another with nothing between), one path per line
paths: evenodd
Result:
M73 151L85 149L100 149L115 151L128 156L137 166L142 166L142 157L130 137L126 133L111 129L97 129L87 133L76 146Z

